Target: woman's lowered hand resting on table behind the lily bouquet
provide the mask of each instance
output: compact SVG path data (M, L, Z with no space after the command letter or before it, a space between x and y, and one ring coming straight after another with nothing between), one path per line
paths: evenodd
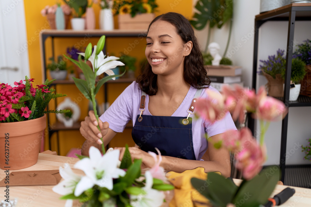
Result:
M116 149L120 150L119 160L122 161L122 158L125 152L125 147L114 147L114 150ZM128 151L131 154L132 161L134 161L134 159L142 159L142 169L152 168L155 165L155 160L149 153L137 147L129 147Z

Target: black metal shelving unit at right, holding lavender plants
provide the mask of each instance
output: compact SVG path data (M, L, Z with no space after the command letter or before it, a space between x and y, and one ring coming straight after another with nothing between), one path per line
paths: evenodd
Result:
M311 98L306 96L299 96L297 101L289 101L290 91L290 74L291 74L291 60L293 55L293 41L294 41L294 30L295 21L310 21L311 20L311 3L292 3L278 9L267 11L259 14L255 17L255 34L254 34L254 54L253 54L253 79L252 88L256 88L257 80L257 63L258 63L258 38L259 28L267 21L288 21L288 36L287 36L287 51L286 51L286 65L285 65L285 87L284 87L284 98L281 100L288 107L300 107L300 106L311 106ZM288 114L282 120L281 130L281 153L280 153L280 168L281 168L281 181L285 181L285 161L286 161L286 140L287 140L287 124ZM249 117L248 127L254 133L255 120Z

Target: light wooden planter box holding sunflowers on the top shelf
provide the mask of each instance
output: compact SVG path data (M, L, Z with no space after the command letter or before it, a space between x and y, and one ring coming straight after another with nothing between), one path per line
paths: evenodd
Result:
M148 29L150 22L154 18L154 13L137 14L134 17L131 17L130 14L119 14L119 29Z

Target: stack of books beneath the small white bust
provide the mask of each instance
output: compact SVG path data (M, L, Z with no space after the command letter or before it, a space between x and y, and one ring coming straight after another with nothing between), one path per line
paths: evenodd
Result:
M206 65L207 77L211 80L211 87L221 92L223 85L244 86L241 75L242 67L233 65Z

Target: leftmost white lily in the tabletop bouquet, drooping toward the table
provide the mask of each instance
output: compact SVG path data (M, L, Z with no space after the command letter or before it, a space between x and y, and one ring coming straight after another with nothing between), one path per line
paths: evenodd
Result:
M81 176L76 175L72 172L69 164L65 163L64 168L59 167L59 174L64 178L62 182L59 182L56 186L52 188L55 193L62 196L72 194L75 190L77 183L81 180ZM81 194L77 195L80 196ZM67 199L65 207L71 207L72 200Z

